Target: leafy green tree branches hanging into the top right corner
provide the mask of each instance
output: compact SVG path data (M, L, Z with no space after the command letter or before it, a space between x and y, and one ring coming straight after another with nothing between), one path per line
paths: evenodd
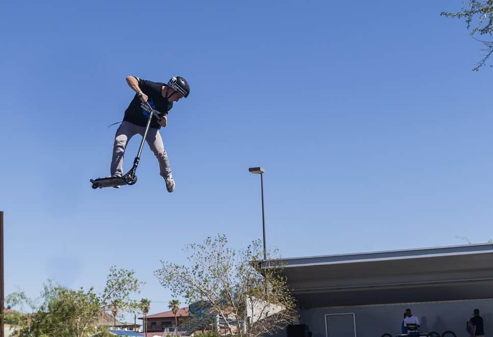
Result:
M485 41L483 38L484 36L491 37L493 35L493 0L469 0L460 12L442 12L440 15L464 19L466 28L470 30L469 34L485 46L485 49L482 49L485 53L483 58L473 68L473 70L478 71L479 68L486 64L491 53L493 53L493 41ZM479 38L476 36L479 36Z

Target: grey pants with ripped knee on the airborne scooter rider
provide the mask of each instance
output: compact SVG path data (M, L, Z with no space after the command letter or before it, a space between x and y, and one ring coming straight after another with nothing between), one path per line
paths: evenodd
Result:
M145 127L132 124L131 122L123 121L118 127L115 135L115 143L113 144L113 158L111 160L111 176L122 176L123 154L125 153L126 144L136 134L144 136ZM164 149L163 140L159 130L149 127L147 137L145 138L151 151L154 153L159 162L159 173L163 178L171 174L169 167L168 154Z

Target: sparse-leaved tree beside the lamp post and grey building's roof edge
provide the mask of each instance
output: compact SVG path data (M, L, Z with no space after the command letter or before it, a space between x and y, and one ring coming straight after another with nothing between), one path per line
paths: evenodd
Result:
M232 334L273 334L289 324L295 307L286 279L280 276L278 251L263 259L260 240L245 249L228 247L225 236L186 246L188 266L163 262L154 274L173 296L202 303L201 315L225 324ZM202 305L201 304L201 305Z

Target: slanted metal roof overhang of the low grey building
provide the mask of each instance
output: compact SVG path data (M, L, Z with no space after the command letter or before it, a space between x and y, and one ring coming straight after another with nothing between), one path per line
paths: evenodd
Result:
M283 261L304 308L493 298L493 244Z

